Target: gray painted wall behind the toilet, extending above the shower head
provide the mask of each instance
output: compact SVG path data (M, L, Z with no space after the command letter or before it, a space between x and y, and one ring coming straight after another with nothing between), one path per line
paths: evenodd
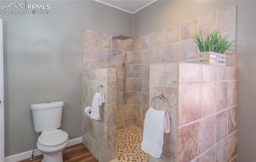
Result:
M8 5L12 1L2 1ZM21 2L21 1L19 1ZM24 1L22 1L24 2ZM1 14L4 24L5 156L32 150L30 104L64 101L61 129L81 137L82 29L132 36L132 14L94 1L50 4L50 14Z

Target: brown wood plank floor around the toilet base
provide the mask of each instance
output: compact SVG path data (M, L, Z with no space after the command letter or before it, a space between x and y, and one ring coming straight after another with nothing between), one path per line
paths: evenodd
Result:
M73 146L66 147L62 151L63 162L98 162L84 144L75 144ZM33 161L30 158L21 160L19 162L41 162L43 155L35 156Z

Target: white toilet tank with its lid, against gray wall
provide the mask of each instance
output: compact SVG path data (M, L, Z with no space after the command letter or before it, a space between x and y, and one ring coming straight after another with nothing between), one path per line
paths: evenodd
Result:
M38 103L30 105L36 132L60 128L64 102Z

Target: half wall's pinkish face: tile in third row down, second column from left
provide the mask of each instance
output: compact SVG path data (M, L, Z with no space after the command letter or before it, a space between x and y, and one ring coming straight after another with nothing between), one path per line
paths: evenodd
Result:
M200 152L205 152L215 144L216 117L211 116L200 121Z

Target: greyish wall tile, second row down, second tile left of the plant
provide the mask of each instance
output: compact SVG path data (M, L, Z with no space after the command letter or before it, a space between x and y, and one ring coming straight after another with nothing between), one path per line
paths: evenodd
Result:
M180 42L165 45L165 61L180 60Z

